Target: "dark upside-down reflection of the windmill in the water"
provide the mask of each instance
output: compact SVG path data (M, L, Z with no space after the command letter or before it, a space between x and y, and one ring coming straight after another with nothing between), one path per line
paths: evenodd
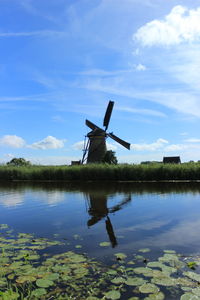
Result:
M88 220L88 227L95 225L100 220L104 219L106 224L106 231L111 242L112 247L117 246L117 239L114 233L114 229L109 218L109 214L115 213L122 209L126 204L131 201L131 194L125 197L118 204L108 207L108 195L105 193L91 192L86 195L88 204L88 213L91 218Z

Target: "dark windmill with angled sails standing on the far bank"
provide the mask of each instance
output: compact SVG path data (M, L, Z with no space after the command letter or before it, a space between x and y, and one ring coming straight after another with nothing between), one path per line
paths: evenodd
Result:
M87 136L84 144L83 150L83 158L82 163L87 160L87 163L99 163L102 162L106 153L106 138L110 137L120 145L130 150L130 144L120 139L112 132L107 133L108 125L110 122L110 117L112 114L114 106L114 101L109 101L106 113L103 120L103 126L105 129L102 129L90 122L89 120L85 120L85 124L92 129Z

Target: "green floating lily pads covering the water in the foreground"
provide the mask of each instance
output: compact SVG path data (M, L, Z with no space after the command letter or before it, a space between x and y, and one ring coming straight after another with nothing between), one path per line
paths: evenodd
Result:
M162 300L172 292L181 300L200 297L200 274L190 268L200 265L198 256L183 258L165 250L150 261L150 249L143 248L138 250L145 255L143 260L138 253L132 257L115 253L108 266L85 254L60 252L62 244L33 234L15 234L1 224L0 299ZM51 247L58 247L56 254Z

